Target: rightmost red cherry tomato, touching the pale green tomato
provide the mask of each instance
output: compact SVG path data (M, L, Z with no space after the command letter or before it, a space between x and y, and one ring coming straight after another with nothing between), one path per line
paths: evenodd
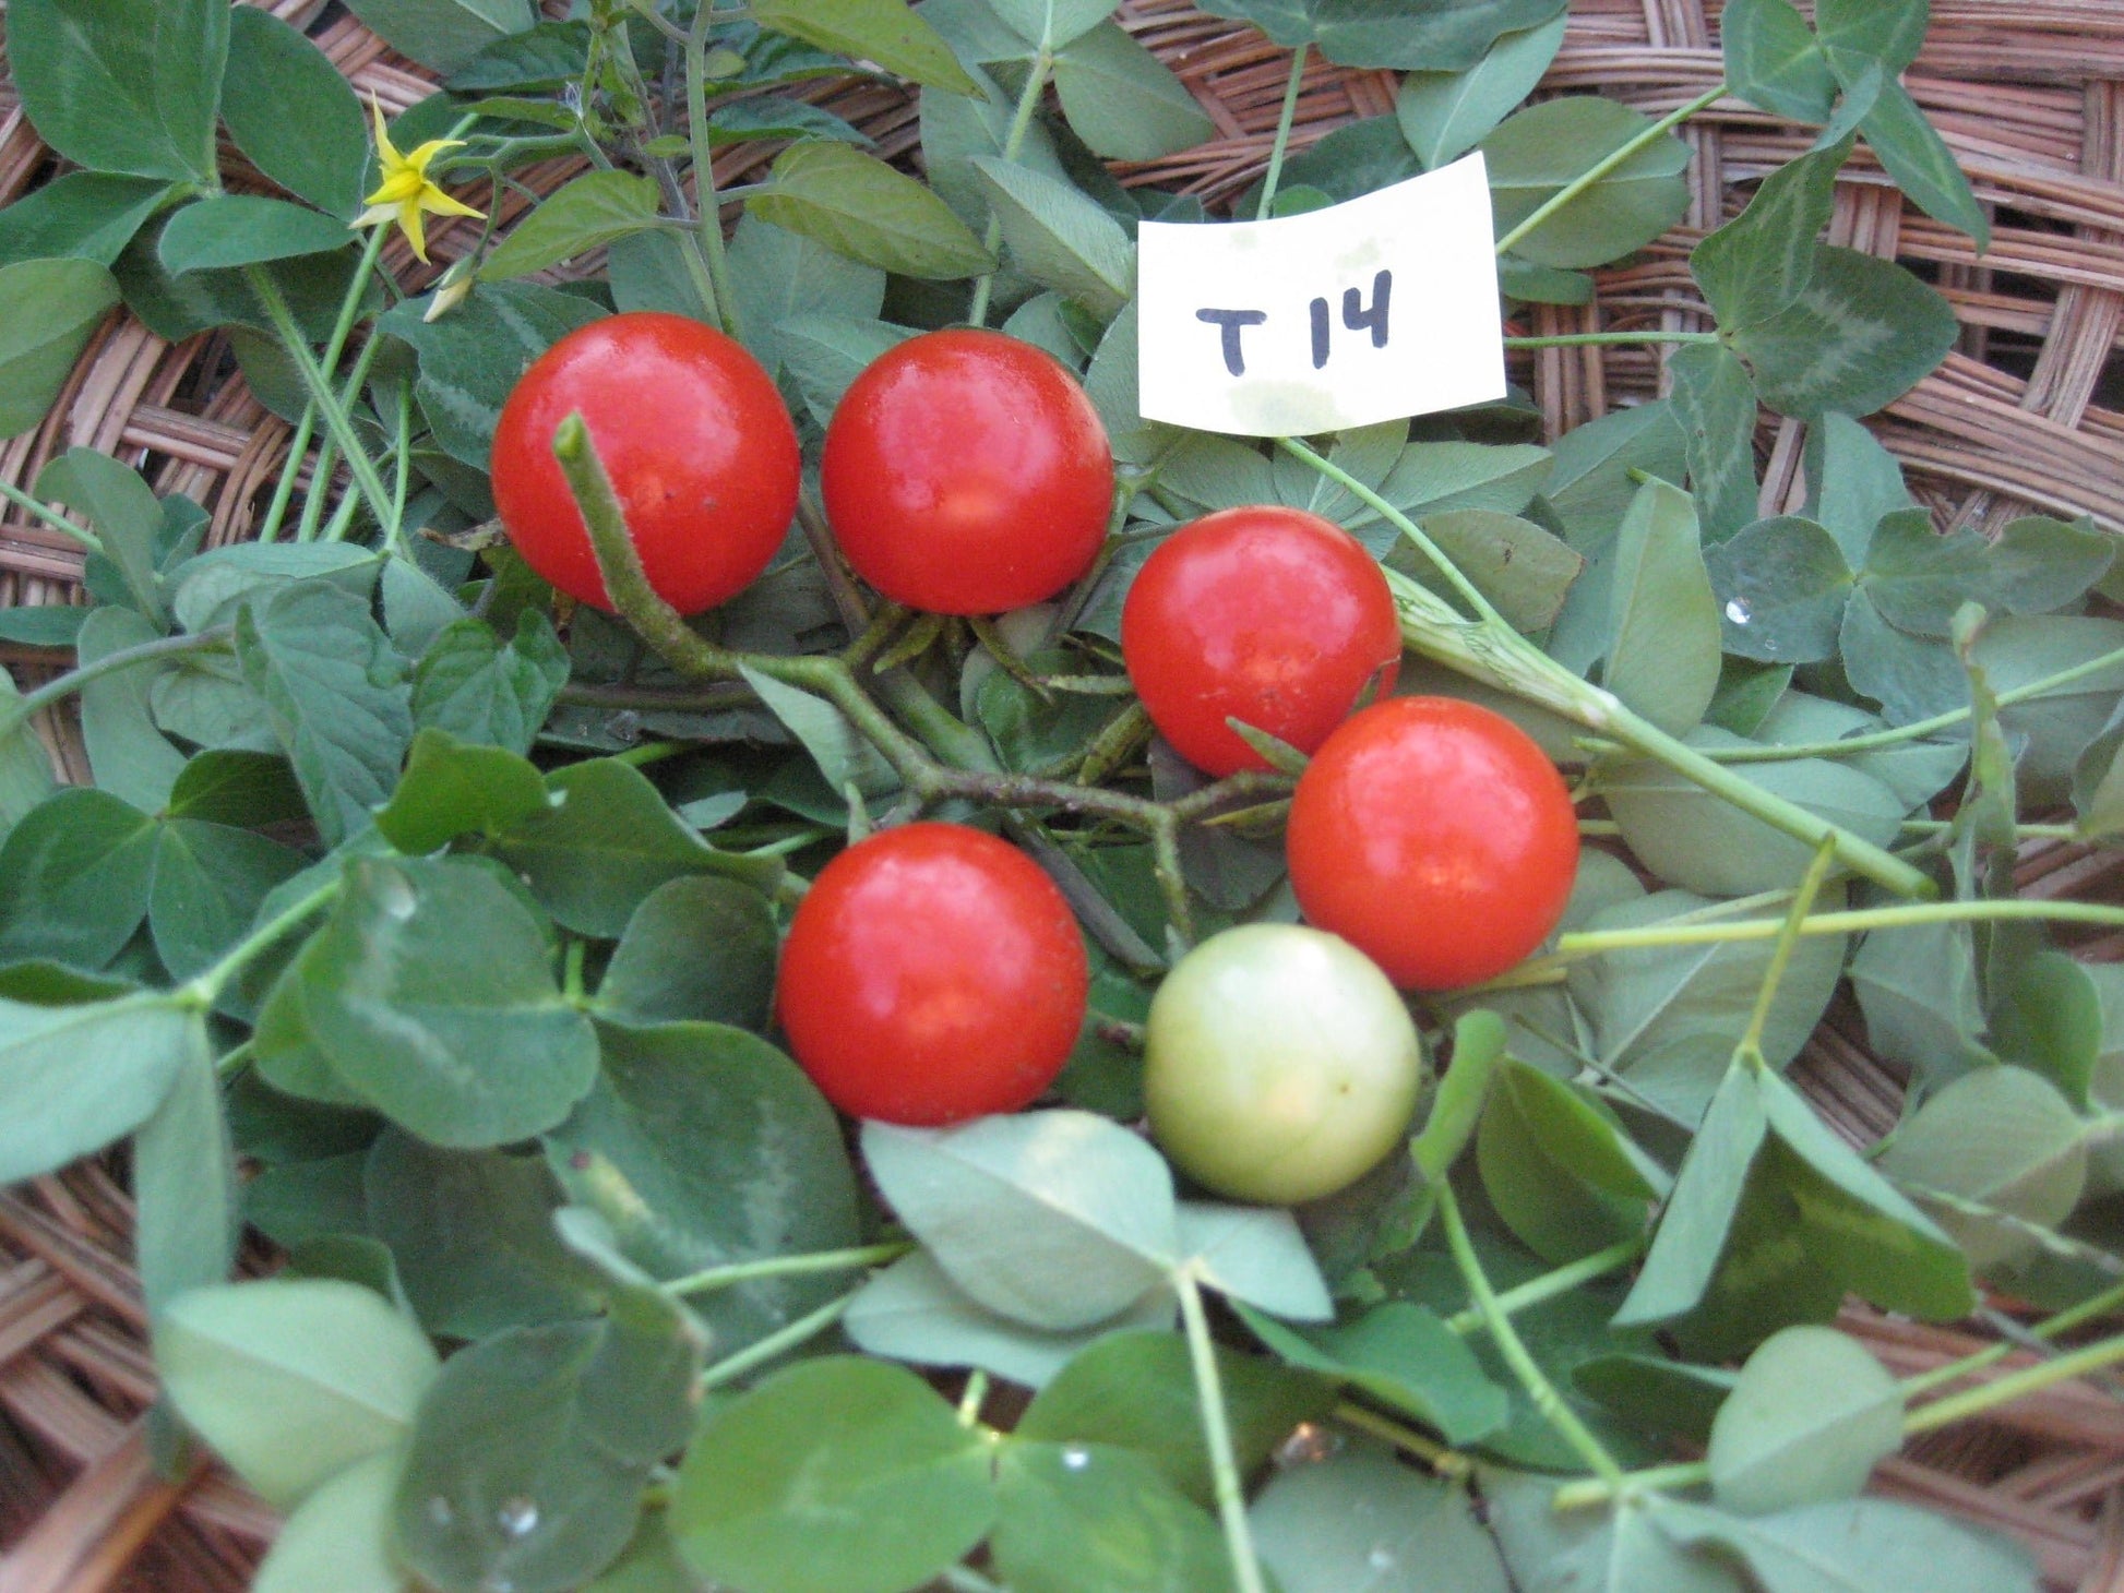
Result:
M1404 990L1453 990L1504 973L1563 918L1578 816L1502 714L1391 697L1315 754L1285 847L1311 924Z

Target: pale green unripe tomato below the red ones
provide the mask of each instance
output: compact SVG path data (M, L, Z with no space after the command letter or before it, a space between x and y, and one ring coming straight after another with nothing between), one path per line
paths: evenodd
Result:
M1249 924L1166 975L1143 1037L1143 1098L1172 1164L1234 1200L1291 1204L1353 1183L1408 1134L1417 1026L1349 941Z

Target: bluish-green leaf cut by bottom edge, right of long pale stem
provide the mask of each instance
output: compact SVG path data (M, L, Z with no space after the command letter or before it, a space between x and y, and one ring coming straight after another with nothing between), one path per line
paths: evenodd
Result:
M1247 1512L1283 1593L1508 1593L1468 1489L1353 1444L1279 1474Z

